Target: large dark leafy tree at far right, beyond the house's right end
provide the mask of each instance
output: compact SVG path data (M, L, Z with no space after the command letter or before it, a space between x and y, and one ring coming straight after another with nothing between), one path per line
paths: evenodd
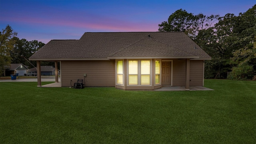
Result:
M212 60L205 63L206 78L227 78L228 72L239 71L235 69L237 66L249 70L246 64L255 71L256 66L252 60L246 64L238 60L239 52L246 53L252 50L254 36L256 36L256 5L247 12L240 13L239 16L226 14L219 17L214 27L199 30L194 41L212 57ZM251 76L242 77L245 79Z

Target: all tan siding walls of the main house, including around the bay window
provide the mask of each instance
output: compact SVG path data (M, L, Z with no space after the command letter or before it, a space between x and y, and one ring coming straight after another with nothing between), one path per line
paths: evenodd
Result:
M154 60L152 61L154 62ZM126 63L126 61L125 61ZM172 86L185 86L186 60L173 59ZM124 83L126 84L126 64L124 64ZM190 60L190 86L203 86L203 60ZM154 68L154 66L152 66ZM62 61L62 86L73 86L77 79L84 80L85 86L116 86L120 89L156 89L154 86L154 70L152 70L152 86L118 86L115 85L115 60L95 61ZM70 85L70 80L72 80Z

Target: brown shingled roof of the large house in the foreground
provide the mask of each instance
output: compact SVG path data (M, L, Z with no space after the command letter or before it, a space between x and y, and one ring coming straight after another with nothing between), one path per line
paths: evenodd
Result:
M210 60L183 32L86 32L80 40L51 40L30 60L196 58Z

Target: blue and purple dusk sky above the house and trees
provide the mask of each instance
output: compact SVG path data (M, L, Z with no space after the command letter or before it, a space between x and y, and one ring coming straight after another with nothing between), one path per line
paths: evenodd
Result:
M84 32L156 32L176 10L238 16L256 0L0 0L0 29L48 43L80 39Z

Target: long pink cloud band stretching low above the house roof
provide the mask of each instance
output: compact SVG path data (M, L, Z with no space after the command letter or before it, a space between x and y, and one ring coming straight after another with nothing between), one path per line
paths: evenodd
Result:
M84 28L92 30L109 30L109 31L157 31L158 24L146 24L148 22L130 22L118 19L108 19L103 20L93 19L93 20L76 20L76 19L48 19L48 18L32 18L32 17L8 17L5 21L12 21L17 23L23 23L28 25L47 25L47 26L65 26L65 27L75 27ZM145 25L146 24L146 25Z

